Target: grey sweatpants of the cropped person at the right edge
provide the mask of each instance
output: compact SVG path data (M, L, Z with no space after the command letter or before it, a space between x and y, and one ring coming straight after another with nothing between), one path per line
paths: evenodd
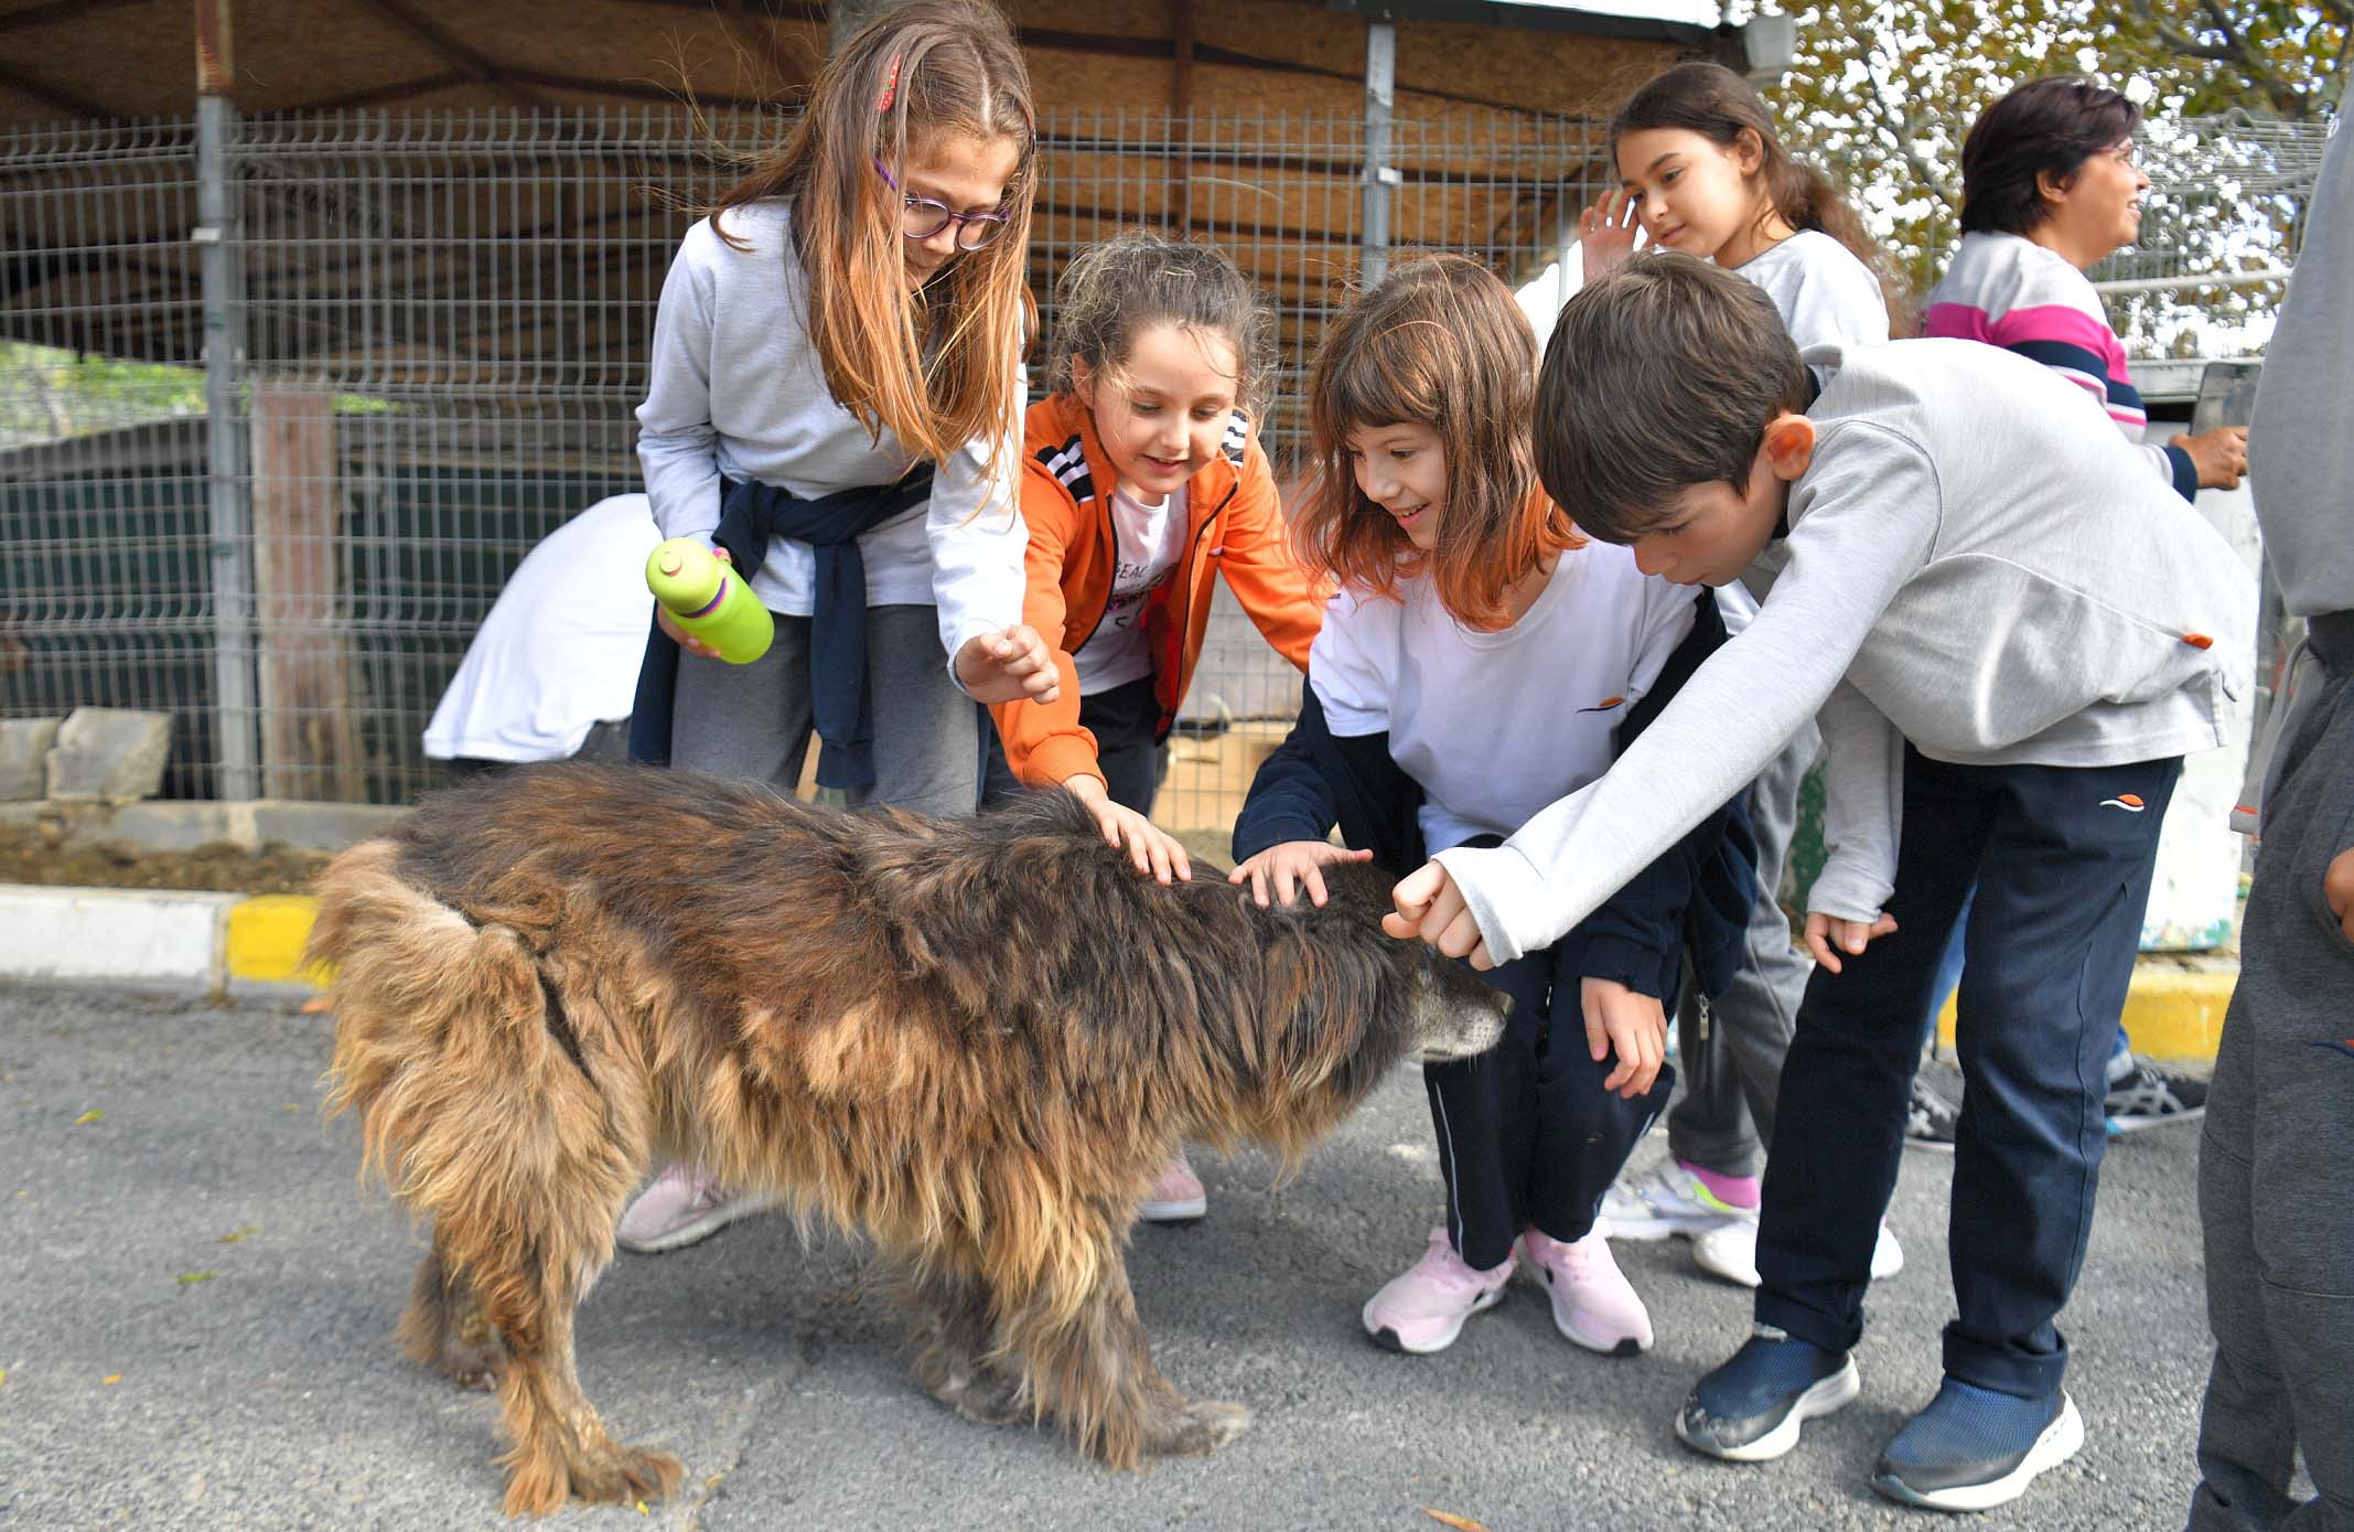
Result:
M2321 894L2354 845L2354 652L2323 664L2265 798L2199 1144L2215 1370L2194 1532L2354 1527L2354 944ZM2319 1490L2302 1506L2300 1447Z

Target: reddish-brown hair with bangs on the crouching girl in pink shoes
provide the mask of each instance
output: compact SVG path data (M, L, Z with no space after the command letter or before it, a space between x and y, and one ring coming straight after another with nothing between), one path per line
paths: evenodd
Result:
M1537 487L1535 407L1537 337L1504 282L1455 254L1394 266L1316 348L1316 468L1292 522L1302 562L1391 598L1401 579L1427 572L1455 621L1490 633L1509 626L1511 586L1584 544ZM1351 431L1408 424L1429 426L1448 454L1445 513L1429 553L1365 499L1349 464Z

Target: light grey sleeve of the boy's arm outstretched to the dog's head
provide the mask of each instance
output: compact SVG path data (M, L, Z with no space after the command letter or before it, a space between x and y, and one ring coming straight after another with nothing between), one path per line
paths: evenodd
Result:
M1436 857L1490 958L1509 963L1558 941L1740 793L1822 708L1871 624L1928 562L1937 473L1902 433L1836 421L1791 485L1789 522L1787 565L1756 619L1683 682L1608 774L1499 847ZM1841 725L1836 708L1827 725L1827 734ZM1895 795L1886 779L1881 793ZM1855 854L1886 854L1893 866L1893 835L1886 852L1857 845Z

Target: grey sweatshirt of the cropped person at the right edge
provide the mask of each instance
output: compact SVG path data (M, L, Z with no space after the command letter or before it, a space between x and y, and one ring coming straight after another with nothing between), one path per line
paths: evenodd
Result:
M2290 617L2354 612L2354 134L2321 155L2298 275L2265 351L2248 478Z

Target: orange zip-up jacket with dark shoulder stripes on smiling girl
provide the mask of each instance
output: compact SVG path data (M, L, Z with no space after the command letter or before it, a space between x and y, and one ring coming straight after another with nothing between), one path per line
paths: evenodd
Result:
M1055 645L1062 694L1050 704L1010 701L991 708L1005 762L1029 786L1097 777L1095 734L1078 722L1073 654L1111 602L1118 539L1111 527L1111 459L1095 435L1095 414L1066 393L1029 407L1022 428L1022 520L1029 522L1022 621ZM1302 671L1323 626L1325 591L1292 558L1266 452L1236 412L1222 452L1186 480L1184 555L1144 607L1161 720L1153 739L1177 722L1193 680L1201 635L1210 626L1210 581L1224 572L1243 612L1266 642Z

